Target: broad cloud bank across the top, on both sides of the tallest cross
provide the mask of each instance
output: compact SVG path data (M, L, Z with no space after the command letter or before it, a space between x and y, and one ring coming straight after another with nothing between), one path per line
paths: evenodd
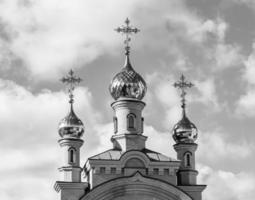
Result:
M4 0L0 13L0 25L4 27L0 34L4 56L0 61L6 68L18 65L26 69L36 80L53 79L70 66L84 67L103 54L117 53L122 42L113 28L127 16L143 30L143 37L136 42L138 47L166 49L176 55L176 64L183 69L184 65L192 65L192 58L185 52L187 43L204 49L210 38L223 41L228 27L222 19L206 19L177 0L160 4L155 0ZM238 52L236 46L223 43L212 48L222 66L232 64Z

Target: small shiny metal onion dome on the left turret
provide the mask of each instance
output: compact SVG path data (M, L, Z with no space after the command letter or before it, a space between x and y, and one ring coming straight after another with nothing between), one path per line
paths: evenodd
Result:
M84 133L84 125L74 113L72 104L69 114L59 123L58 133L61 137L75 138L80 138Z

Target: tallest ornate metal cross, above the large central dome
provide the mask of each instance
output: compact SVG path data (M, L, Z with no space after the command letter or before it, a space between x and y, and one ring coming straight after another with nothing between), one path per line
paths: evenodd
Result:
M125 44L125 50L126 50L126 55L129 55L129 51L130 51L130 46L129 46L129 42L131 41L131 37L130 35L132 35L133 33L138 33L140 30L138 28L134 28L132 26L130 26L130 20L127 18L125 20L125 26L122 25L121 27L118 27L115 29L115 31L117 31L118 33L122 33L125 34L126 38L124 40L124 44Z

